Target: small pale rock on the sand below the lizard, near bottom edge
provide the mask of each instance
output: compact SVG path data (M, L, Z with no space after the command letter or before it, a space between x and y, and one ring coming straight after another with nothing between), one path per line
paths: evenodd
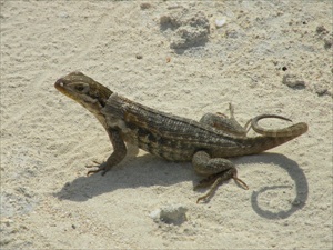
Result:
M150 218L155 222L162 221L168 224L181 224L186 221L186 211L188 208L182 204L169 204L152 211Z

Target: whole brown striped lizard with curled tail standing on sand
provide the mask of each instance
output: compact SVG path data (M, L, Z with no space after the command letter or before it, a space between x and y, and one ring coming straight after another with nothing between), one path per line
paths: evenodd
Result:
M305 122L282 129L259 126L259 120L265 118L291 121L278 114L258 116L242 127L234 118L232 104L230 118L222 113L206 113L200 121L178 117L129 100L79 71L60 78L54 87L88 109L109 134L113 152L103 163L87 166L98 167L88 171L88 176L97 172L104 176L124 159L127 143L134 144L169 161L192 162L195 172L204 176L194 190L210 187L196 203L209 201L218 187L230 179L249 189L226 158L260 153L307 131ZM259 136L246 137L249 129Z

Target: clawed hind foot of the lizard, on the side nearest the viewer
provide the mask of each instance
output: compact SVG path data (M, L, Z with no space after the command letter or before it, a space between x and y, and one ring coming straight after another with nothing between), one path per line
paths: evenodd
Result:
M194 187L194 190L198 188L204 188L204 187L211 187L206 194L199 197L196 200L196 203L199 203L201 200L205 200L208 202L216 191L220 184L222 182L234 179L240 186L242 186L245 190L249 189L248 184L238 178L238 171L236 169L232 168L226 171L222 171L215 174L211 174L208 178L201 180L198 186Z

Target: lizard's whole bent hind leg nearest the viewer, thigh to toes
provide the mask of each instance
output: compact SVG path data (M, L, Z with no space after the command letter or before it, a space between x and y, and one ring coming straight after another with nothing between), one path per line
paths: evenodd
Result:
M210 199L218 187L230 179L234 179L238 183L243 186L244 189L249 189L248 184L238 178L238 171L230 160L211 158L208 152L198 151L192 158L192 164L199 174L208 176L205 179L201 180L194 189L211 187L206 194L198 198L196 203L201 200Z

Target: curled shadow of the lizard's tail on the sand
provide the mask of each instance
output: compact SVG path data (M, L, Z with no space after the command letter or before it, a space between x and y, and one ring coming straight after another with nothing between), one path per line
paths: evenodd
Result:
M305 206L309 196L309 184L303 170L295 161L283 154L270 152L246 157L246 159L242 161L253 164L266 163L278 166L285 170L295 183L295 198L290 201L290 208L285 210L281 209L280 211L276 211L276 208L272 208L274 211L263 209L259 202L260 196L271 190L290 188L290 186L263 187L259 191L253 191L251 196L251 206L259 216L271 220L285 219ZM239 163L241 161L239 161Z

